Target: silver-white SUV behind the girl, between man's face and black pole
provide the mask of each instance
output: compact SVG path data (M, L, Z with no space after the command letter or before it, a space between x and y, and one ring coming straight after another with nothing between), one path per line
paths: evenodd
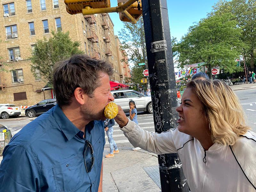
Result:
M146 96L134 90L124 89L111 91L114 102L120 105L125 113L129 113L129 101L134 100L137 111L147 111L153 113L152 101L150 96Z

